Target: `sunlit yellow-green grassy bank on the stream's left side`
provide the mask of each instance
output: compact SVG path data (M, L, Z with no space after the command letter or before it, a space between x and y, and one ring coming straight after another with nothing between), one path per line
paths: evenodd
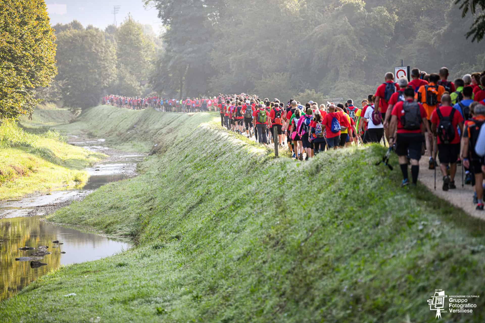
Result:
M72 118L66 110L53 111L36 109L32 121L22 118L22 126L29 132L13 121L2 121L0 200L80 185L88 178L82 169L104 158L103 154L67 144L58 132L50 130L49 126L67 123L67 118Z

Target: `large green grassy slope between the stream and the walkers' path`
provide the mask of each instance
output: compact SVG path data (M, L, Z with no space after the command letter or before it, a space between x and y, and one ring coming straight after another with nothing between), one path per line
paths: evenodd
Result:
M194 129L210 115L144 116L179 139L49 216L138 246L39 278L0 303L5 322L434 322L435 289L481 296L447 322L484 322L483 222L399 188L382 147L295 162Z

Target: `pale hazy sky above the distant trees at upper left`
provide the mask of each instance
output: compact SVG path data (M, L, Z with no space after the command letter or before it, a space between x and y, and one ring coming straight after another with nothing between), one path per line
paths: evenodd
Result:
M131 13L136 21L153 26L159 34L162 24L155 9L146 10L142 0L46 0L52 25L78 20L85 27L93 25L100 29L113 24L113 6L120 6L116 15L118 26Z

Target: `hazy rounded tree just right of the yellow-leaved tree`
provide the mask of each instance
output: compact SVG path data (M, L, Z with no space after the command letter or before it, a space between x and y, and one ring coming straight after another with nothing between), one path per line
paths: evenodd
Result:
M65 105L72 108L95 106L103 91L116 77L113 44L104 32L67 30L57 35L57 63Z

